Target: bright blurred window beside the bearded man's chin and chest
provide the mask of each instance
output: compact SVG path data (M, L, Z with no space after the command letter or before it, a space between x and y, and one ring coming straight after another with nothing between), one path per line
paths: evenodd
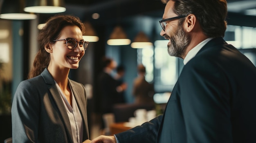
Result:
M168 40L158 40L155 48L137 49L137 63L146 67L146 81L156 92L171 92L178 78L178 58L167 52Z

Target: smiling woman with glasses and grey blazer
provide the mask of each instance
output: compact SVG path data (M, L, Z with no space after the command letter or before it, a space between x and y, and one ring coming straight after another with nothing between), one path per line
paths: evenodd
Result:
M86 94L68 78L89 44L74 16L50 18L38 35L40 49L29 79L22 81L11 108L13 143L82 143L89 139Z

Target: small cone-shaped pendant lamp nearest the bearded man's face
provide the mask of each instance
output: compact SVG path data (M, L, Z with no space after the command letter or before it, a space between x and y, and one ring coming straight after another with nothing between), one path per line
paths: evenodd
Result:
M132 42L131 44L132 48L146 48L146 47L152 47L152 46L153 46L153 43L150 42L149 38L142 31L137 34L137 36L134 39L134 42Z

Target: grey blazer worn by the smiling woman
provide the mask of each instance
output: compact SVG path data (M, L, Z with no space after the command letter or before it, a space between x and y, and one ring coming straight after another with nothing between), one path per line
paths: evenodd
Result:
M68 80L83 118L83 141L89 139L86 93ZM22 81L11 108L13 143L73 143L70 121L49 71Z

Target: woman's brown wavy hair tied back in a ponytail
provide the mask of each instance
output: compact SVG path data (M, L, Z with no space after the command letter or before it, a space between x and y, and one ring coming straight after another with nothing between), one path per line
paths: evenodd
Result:
M38 34L39 51L36 54L33 66L29 72L29 79L40 75L43 70L48 67L50 55L45 51L45 45L54 44L55 42L53 42L53 40L56 40L60 36L61 30L65 26L78 26L82 33L85 32L84 24L76 16L55 15L49 18L46 25L39 31Z

